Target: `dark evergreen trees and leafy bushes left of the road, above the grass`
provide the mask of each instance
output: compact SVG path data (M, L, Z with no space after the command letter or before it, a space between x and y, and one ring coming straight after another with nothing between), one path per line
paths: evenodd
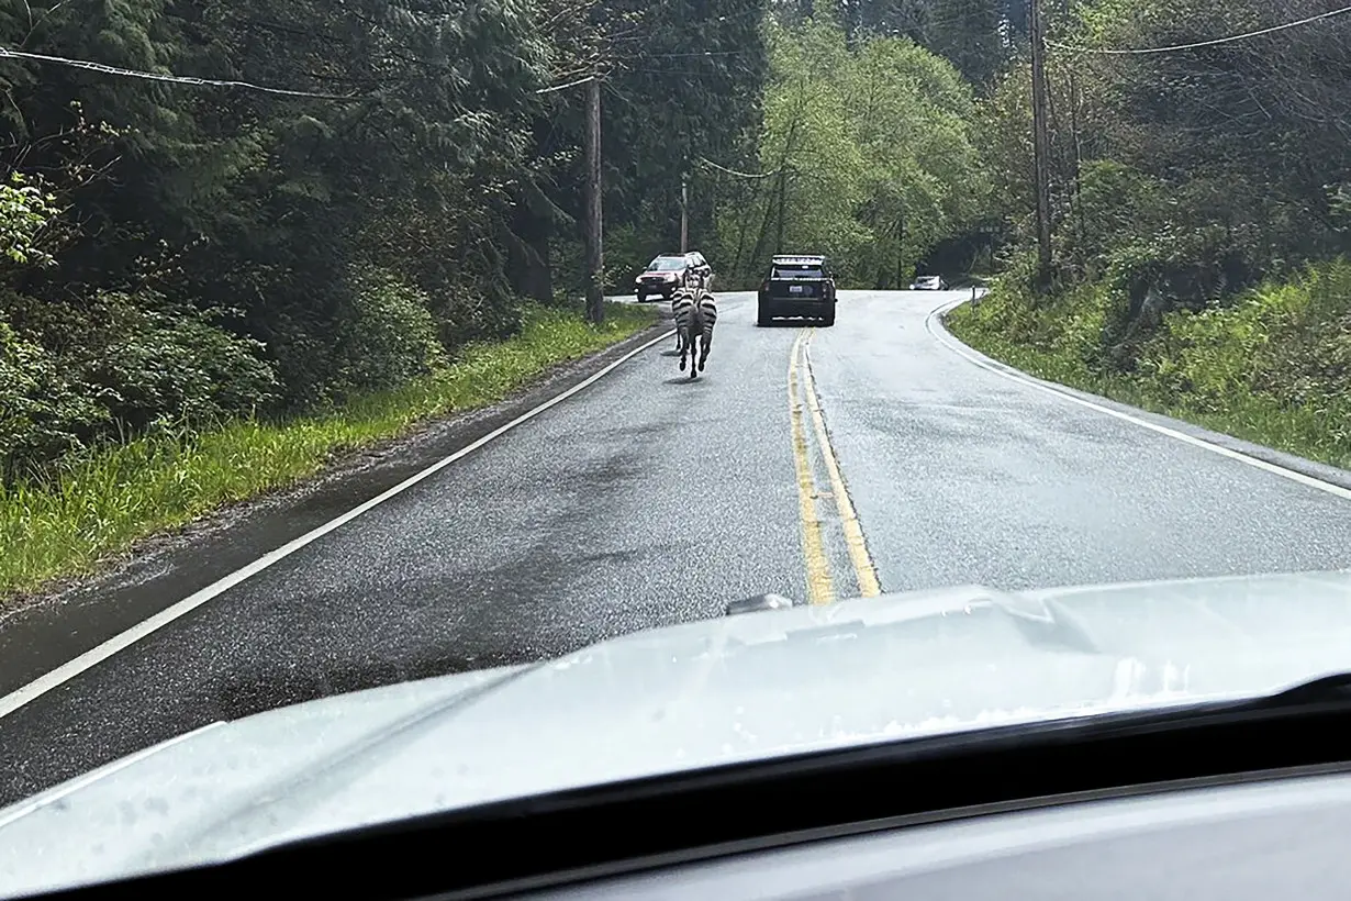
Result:
M0 480L155 430L330 409L519 332L520 294L536 293L520 278L523 250L539 243L531 219L581 197L571 126L585 92L536 92L585 61L597 28L657 28L670 46L647 42L648 53L738 47L716 63L690 59L703 66L692 85L639 74L653 68L642 61L613 81L657 103L607 111L619 139L607 146L619 169L608 219L669 232L671 208L651 216L654 185L678 185L688 153L735 155L758 123L759 14L712 5L0 9L0 46L353 97L0 59L0 168L11 180L0 184ZM734 7L738 20L715 27ZM632 55L632 45L613 47ZM678 142L671 130L650 134L654 115ZM543 135L547 122L559 127ZM544 284L555 224L535 257Z

